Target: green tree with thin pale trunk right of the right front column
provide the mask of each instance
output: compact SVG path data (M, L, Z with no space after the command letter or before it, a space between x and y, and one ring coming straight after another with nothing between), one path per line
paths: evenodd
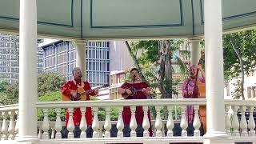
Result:
M224 75L227 80L241 76L242 99L245 99L244 75L255 65L256 30L246 30L223 36Z

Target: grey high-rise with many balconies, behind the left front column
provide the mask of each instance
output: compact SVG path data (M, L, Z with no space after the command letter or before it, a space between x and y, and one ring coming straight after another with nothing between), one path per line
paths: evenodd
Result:
M38 39L38 43L40 42L42 39ZM0 34L0 80L10 83L18 80L18 46L18 36ZM43 70L42 52L38 49L38 73Z

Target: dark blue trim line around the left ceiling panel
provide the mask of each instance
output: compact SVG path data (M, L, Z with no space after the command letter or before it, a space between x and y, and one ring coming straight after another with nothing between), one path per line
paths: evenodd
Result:
M71 2L71 11L70 11L70 25L58 23L58 22L43 22L43 21L38 21L38 24L42 25L50 25L50 26L64 26L64 27L74 27L74 0L70 0ZM14 18L14 17L6 17L0 15L0 19L6 19L14 22L19 22L19 18Z

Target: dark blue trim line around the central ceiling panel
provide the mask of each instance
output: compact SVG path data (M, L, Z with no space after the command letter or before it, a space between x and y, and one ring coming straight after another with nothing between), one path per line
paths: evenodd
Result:
M170 23L165 25L128 25L128 26L94 26L93 22L93 1L90 0L90 29L122 29L122 28L149 28L149 27L174 27L174 26L184 26L183 22L183 6L182 0L179 1L179 13L180 13L180 22L179 23Z

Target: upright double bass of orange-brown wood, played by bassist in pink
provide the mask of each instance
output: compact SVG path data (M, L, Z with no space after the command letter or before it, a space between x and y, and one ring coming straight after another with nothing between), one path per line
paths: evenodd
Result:
M202 65L204 63L204 55L200 58L198 65ZM198 81L198 73L197 73L197 85L198 85L198 98L206 98L206 83ZM199 106L199 118L202 122L203 131L206 134L206 106Z

